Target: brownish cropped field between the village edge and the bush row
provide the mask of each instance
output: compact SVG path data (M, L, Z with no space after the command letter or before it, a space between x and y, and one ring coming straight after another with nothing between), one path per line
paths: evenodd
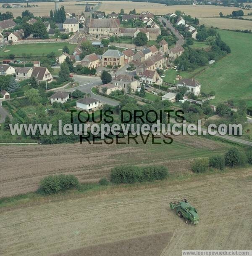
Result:
M174 140L170 145L152 145L149 140L146 145L131 142L0 147L0 197L35 191L42 177L51 174L74 174L81 182L97 182L109 177L111 168L121 164L162 164L171 172L183 172L193 158L223 152L227 147L204 138L195 140L193 136L176 136Z

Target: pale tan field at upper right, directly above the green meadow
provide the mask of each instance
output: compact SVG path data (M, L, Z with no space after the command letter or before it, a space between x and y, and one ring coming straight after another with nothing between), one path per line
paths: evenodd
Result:
M199 18L199 24L220 29L252 29L252 21L225 18Z

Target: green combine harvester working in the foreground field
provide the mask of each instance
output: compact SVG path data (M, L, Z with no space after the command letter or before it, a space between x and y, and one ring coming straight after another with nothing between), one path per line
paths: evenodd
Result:
M199 215L197 213L197 210L188 203L186 200L186 197L184 200L177 201L177 202L171 202L170 203L171 209L176 209L176 214L178 217L185 219L186 224L198 224L199 223Z

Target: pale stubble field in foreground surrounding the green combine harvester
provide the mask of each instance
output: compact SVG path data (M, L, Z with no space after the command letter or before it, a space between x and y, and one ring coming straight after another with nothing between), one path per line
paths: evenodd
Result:
M243 168L162 181L152 188L139 185L116 193L112 189L101 195L2 208L1 256L124 255L125 246L130 252L131 247L147 248L147 236L153 241L146 256L181 256L182 249L248 250L251 193L252 170ZM169 202L184 196L197 208L196 226L185 224L169 208ZM161 234L165 237L160 241ZM105 254L95 254L103 248ZM128 255L142 255L138 252Z

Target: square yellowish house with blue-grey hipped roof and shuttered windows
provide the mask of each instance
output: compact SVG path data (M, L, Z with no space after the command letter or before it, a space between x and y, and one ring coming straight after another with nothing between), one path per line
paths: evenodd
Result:
M102 54L102 66L124 66L124 54L118 50L108 50Z

